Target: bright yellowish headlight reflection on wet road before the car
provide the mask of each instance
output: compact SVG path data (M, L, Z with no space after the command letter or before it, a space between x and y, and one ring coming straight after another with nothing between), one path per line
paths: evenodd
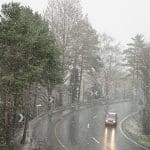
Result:
M103 150L116 150L116 129L105 128Z

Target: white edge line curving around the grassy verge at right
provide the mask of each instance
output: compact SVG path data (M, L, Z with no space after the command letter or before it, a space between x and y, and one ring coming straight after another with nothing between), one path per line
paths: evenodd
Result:
M135 112L135 113L133 113L133 114L130 114L130 115L126 116L124 119L122 119L122 120L120 121L120 124L119 124L119 129L120 129L122 135L123 135L128 141L130 141L131 143L133 143L133 144L135 144L135 145L137 145L137 146L139 146L139 147L141 147L141 148L143 148L143 149L145 149L145 150L149 150L149 149L146 148L145 146L140 145L140 144L138 144L136 141L134 141L134 140L132 140L131 138L129 138L129 137L124 133L124 131L123 131L123 129L122 129L123 122L124 122L125 120L127 120L129 117L131 117L131 116L133 116L133 115L135 115L135 114L137 114L137 113L138 113L138 112Z

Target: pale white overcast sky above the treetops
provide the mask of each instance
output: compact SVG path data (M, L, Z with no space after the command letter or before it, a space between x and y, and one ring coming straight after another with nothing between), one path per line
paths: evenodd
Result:
M0 0L0 5L12 0ZM42 13L47 0L13 0ZM93 27L106 32L123 44L136 33L150 41L150 0L82 0Z

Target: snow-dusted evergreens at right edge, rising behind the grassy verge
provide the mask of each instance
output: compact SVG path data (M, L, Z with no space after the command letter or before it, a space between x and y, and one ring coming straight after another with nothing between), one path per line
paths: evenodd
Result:
M133 98L142 104L141 124L143 132L150 133L150 44L145 42L144 36L137 34L132 38L125 50L126 60L132 75ZM142 92L139 90L142 89ZM143 95L143 96L142 96ZM139 99L140 98L140 99Z

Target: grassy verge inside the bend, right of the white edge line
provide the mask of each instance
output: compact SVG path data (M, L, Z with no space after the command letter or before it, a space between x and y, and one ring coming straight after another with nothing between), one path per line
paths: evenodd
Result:
M138 120L139 114L130 116L124 121L122 125L123 130L127 136L133 139L135 142L150 149L150 135L144 135L142 133L142 128Z

